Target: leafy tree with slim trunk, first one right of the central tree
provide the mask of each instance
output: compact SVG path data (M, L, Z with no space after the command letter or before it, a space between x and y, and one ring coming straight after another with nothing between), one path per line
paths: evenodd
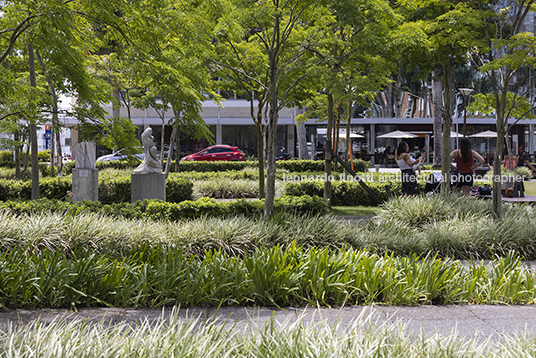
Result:
M315 50L323 61L322 85L327 95L324 198L331 201L331 152L335 114L346 113L347 145L354 103L368 106L374 94L389 81L390 31L397 19L389 4L375 1L331 1L327 34ZM383 46L378 43L383 42ZM319 88L320 90L320 88ZM338 99L338 101L337 101ZM336 107L339 107L338 109ZM338 130L335 131L338 136ZM337 138L335 138L337 139ZM346 151L348 152L348 151Z

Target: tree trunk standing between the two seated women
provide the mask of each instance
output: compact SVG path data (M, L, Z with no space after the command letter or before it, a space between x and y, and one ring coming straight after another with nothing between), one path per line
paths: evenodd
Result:
M443 109L443 143L441 161L441 194L448 195L450 190L450 127L452 116L450 113L450 103L452 101L452 65L450 62L443 67L443 82L445 84L445 101Z

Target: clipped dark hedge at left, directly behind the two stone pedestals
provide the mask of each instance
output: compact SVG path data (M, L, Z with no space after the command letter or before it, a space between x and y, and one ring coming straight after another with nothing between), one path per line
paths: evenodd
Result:
M39 180L39 196L47 199L65 198L72 190L71 178L44 178ZM31 181L0 179L0 200L29 200ZM182 178L166 180L166 200L181 202L191 200L193 183ZM99 180L99 201L102 204L130 202L130 177L118 176Z

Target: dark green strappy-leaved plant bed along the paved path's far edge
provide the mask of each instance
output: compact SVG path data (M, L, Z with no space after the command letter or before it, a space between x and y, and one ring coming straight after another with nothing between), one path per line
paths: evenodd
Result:
M515 253L467 265L295 243L242 256L146 244L120 253L6 251L0 292L1 308L534 304L536 274Z

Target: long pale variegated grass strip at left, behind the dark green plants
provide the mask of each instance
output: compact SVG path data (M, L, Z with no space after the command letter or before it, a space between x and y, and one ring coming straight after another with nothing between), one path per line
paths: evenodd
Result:
M330 216L278 213L257 217L208 217L179 221L125 219L104 214L0 211L0 250L30 248L121 252L145 244L187 247L193 254L222 250L243 255L260 247L289 245L341 247L354 225L341 225Z

